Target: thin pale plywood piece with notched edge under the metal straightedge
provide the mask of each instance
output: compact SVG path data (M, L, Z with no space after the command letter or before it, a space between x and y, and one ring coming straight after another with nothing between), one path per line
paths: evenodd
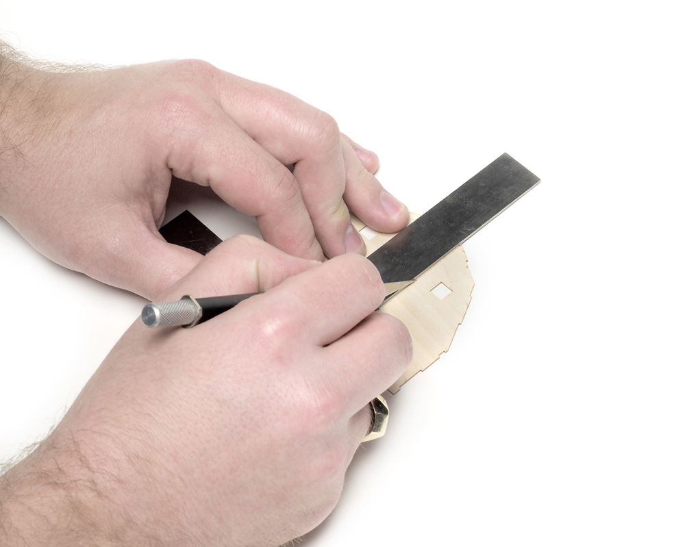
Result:
M410 222L419 218L410 215ZM358 218L352 224L361 231L365 225ZM362 235L366 244L366 256L395 236L379 233L371 240ZM432 293L440 283L451 292L442 300ZM426 370L442 353L449 350L457 327L461 325L471 302L473 277L466 262L462 246L445 255L443 259L423 272L412 285L390 298L379 310L397 317L409 329L414 343L414 357L402 376L389 389L395 394L415 374Z

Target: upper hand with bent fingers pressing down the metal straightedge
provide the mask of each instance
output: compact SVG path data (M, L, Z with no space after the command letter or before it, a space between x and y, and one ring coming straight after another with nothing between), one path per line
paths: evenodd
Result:
M408 222L372 175L377 157L331 116L209 64L49 73L5 60L0 84L0 215L58 264L142 296L201 259L158 233L172 175L309 259L363 253L347 205L379 231Z

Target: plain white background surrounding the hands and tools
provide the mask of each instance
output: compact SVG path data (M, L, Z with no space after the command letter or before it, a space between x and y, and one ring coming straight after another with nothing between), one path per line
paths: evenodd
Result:
M0 1L37 57L203 58L332 114L423 213L503 152L543 182L464 246L451 350L390 398L308 546L685 544L681 1ZM254 230L202 194L222 237ZM237 228L236 228L237 227ZM0 457L142 298L0 220Z

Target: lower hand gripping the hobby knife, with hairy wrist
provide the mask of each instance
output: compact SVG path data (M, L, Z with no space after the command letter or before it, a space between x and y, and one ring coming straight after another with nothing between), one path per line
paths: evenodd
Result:
M274 285L193 329L136 321L0 481L8 546L277 546L319 524L411 340L373 313L384 287L363 257L314 266L249 236L161 298Z

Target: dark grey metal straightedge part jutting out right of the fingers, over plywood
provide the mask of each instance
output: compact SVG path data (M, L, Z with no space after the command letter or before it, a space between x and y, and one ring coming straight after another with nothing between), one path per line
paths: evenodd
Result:
M502 154L369 255L385 283L416 279L540 179Z

